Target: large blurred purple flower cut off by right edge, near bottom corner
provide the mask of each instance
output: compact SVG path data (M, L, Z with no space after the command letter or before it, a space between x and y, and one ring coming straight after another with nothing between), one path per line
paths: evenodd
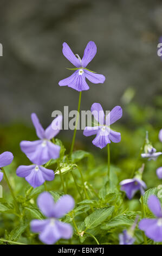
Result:
M155 196L148 198L148 208L157 218L144 218L139 222L139 228L146 236L155 242L162 242L162 210L159 199Z

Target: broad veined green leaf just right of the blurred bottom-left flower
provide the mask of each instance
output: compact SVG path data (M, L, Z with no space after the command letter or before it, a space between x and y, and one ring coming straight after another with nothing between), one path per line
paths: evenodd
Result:
M92 214L85 218L85 226L87 229L95 228L106 220L112 214L114 206L95 210Z

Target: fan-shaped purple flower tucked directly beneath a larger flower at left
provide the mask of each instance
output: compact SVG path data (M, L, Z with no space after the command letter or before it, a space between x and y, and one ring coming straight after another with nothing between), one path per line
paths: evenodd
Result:
M43 166L31 164L30 166L19 166L16 170L19 177L25 178L32 187L41 186L44 181L51 181L55 178L53 170L46 169Z

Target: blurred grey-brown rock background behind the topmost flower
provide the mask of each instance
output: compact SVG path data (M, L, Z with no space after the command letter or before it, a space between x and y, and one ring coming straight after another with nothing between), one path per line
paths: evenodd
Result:
M77 108L79 93L58 82L73 71L62 54L66 41L80 56L88 41L98 52L88 68L106 76L82 93L82 109L100 102L121 105L126 88L137 90L141 104L161 93L162 35L160 0L1 0L0 120L30 121L36 112L46 125L55 109Z

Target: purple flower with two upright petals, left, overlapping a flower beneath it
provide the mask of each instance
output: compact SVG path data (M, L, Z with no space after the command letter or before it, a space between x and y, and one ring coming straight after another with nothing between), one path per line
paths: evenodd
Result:
M21 150L31 162L37 165L47 163L50 159L57 159L60 155L60 146L52 143L50 139L59 133L62 124L62 115L55 118L46 130L43 129L35 113L31 114L31 120L35 126L36 134L40 139L33 142L22 141L20 143Z

